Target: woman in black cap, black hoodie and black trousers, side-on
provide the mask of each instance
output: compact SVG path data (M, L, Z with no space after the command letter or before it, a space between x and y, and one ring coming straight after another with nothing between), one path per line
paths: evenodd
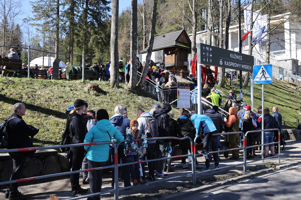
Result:
M82 99L77 99L74 102L74 109L68 114L69 118L69 133L71 144L84 143L86 136L86 126L82 118L82 112L85 111L88 103ZM68 124L68 122L67 122ZM84 158L84 147L70 147L70 163L72 164L71 171L80 170L82 160ZM79 185L79 173L70 175L71 194L70 197L81 197L82 193L88 192L87 189L81 188Z

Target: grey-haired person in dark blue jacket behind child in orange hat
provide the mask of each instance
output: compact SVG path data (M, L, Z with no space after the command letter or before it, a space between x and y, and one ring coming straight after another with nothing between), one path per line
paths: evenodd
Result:
M126 128L129 127L130 119L123 116L124 113L124 107L121 105L118 105L114 109L115 115L109 119L110 122L114 127L116 127L119 132L124 136L124 139L126 139ZM123 152L124 149L124 142L120 143L117 152L118 152L118 163L120 163L120 159L122 160L122 163L128 163L128 160ZM111 148L112 153L112 160L114 160L114 148ZM124 187L128 187L131 185L130 183L130 172L129 172L129 166L122 166L122 172L123 172L123 180L124 180ZM114 187L114 168L112 168L112 187Z

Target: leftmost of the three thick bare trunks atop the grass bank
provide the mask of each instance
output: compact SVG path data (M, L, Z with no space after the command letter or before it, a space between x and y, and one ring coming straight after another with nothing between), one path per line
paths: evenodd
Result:
M111 25L111 67L110 83L113 88L119 88L119 69L118 69L118 11L119 0L112 0L112 25Z

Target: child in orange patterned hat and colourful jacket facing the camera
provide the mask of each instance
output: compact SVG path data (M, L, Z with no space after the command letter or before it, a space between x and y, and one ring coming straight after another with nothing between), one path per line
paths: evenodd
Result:
M137 141L135 139L141 139L143 141L143 151L141 152L138 146ZM138 162L139 156L146 153L147 148L147 139L144 134L138 130L138 121L131 120L130 126L126 128L126 140L127 142L124 143L124 154L126 155L128 162ZM142 142L141 141L141 142ZM145 184L146 182L143 181L140 177L140 164L131 164L129 165L131 177L133 180L133 185Z

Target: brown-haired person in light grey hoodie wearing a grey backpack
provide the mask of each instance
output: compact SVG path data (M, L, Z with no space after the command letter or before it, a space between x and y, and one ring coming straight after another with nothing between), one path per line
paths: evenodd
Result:
M153 118L153 116L150 114L150 111L144 111L142 108L139 108L136 112L137 114L137 121L139 123L138 125L138 130L140 130L143 134L145 134L146 129L148 128L148 125L146 124L147 119L146 118ZM139 157L140 160L145 160L146 157L148 160L154 159L154 153L155 153L155 146L156 146L156 140L148 140L148 146L146 148L146 153L141 155ZM143 146L140 146L140 151L141 149L143 150ZM155 170L154 170L154 162L148 162L148 171L149 175L146 177L147 179L151 181L155 181ZM142 180L145 181L145 163L141 163L141 168L142 168L142 174L143 176L141 177Z

